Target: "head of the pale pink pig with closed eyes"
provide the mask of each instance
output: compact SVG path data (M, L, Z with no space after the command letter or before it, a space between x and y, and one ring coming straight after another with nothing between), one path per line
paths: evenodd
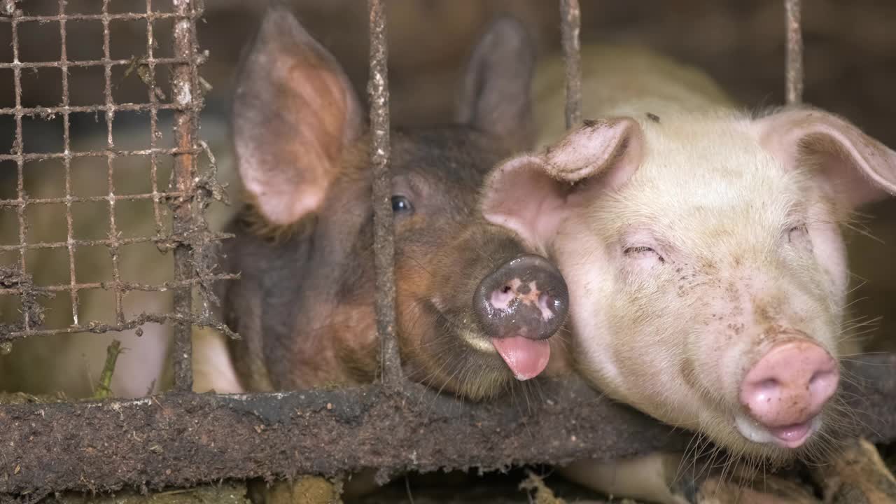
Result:
M845 413L840 227L896 192L896 153L808 107L614 105L498 166L487 219L556 260L607 395L735 455L817 454Z

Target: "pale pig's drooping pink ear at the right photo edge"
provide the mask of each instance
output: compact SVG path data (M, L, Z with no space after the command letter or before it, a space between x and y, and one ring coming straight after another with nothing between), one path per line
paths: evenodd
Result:
M896 152L840 117L790 109L758 119L762 146L788 169L810 168L850 207L896 194Z

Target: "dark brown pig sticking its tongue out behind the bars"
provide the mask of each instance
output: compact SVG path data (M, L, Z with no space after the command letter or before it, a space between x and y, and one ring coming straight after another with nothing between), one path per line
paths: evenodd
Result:
M493 23L473 52L459 124L392 131L405 372L474 400L545 369L548 338L568 305L556 268L477 210L488 169L530 143L521 125L530 124L533 52L520 24ZM249 203L222 250L223 268L242 278L222 284L220 297L242 339L229 349L236 373L227 360L200 363L211 376L196 388L373 381L379 344L363 107L340 65L283 9L265 17L238 79L233 128ZM213 359L218 343L198 344L197 361L203 352Z

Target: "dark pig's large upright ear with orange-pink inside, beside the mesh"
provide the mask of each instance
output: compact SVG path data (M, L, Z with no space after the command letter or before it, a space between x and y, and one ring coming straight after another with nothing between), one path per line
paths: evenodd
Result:
M360 134L361 106L330 53L271 8L237 78L233 134L243 184L271 223L315 212Z

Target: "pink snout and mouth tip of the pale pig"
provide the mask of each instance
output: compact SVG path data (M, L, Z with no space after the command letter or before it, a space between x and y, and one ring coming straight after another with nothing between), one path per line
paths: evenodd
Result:
M839 380L837 361L818 344L778 343L747 371L740 401L771 435L762 440L797 448L817 428L815 419Z

